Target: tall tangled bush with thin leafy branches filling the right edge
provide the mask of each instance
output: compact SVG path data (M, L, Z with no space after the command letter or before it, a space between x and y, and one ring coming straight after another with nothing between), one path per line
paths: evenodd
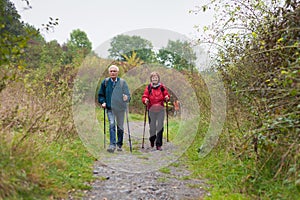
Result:
M282 185L290 196L280 198L294 199L300 185L300 2L212 0L207 8L217 17L201 40L217 49L214 69L226 83L228 119L235 119L227 122L225 148L256 166L245 177L247 192L270 188L265 193L275 199Z

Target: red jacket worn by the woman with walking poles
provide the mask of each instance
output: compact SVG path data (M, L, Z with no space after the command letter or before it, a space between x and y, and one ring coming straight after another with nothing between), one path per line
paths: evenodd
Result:
M150 87L147 85L144 90L142 102L143 104L146 104L146 99L149 99L148 109L150 109L153 106L164 107L164 101L166 96L170 98L167 88L162 83L160 83L160 85L156 88L152 87L151 83Z

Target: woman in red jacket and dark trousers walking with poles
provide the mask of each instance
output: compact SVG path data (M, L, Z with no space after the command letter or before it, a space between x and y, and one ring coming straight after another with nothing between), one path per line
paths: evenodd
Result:
M167 88L160 82L160 76L157 72L150 74L150 84L145 88L142 96L142 102L147 106L149 127L150 127L150 145L161 151L164 131L164 101L169 101L170 95Z

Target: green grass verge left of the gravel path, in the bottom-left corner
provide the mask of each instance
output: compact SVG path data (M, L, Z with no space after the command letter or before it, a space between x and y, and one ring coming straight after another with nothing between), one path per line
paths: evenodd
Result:
M0 199L62 199L68 193L79 198L81 190L90 189L94 159L79 139L32 146L24 144L12 155L1 145Z

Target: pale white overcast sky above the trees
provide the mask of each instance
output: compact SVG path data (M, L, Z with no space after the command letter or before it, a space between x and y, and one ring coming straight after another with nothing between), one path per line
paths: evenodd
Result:
M21 19L36 28L42 28L49 17L59 18L54 31L42 31L46 41L57 40L63 44L73 30L80 29L87 34L93 49L118 34L145 28L200 37L194 26L203 27L212 22L212 14L189 13L203 4L199 0L29 0L32 9L26 10L24 1L11 2Z

